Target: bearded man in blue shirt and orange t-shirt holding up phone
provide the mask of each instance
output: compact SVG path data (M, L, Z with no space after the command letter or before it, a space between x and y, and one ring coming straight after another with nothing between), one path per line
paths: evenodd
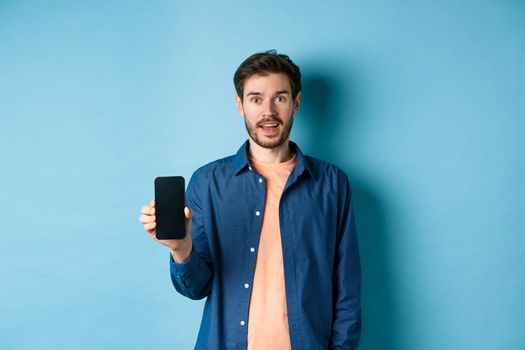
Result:
M157 240L155 202L140 221L170 248L175 289L206 297L196 349L357 349L361 271L352 194L336 166L289 140L301 73L275 51L234 75L248 141L192 175L182 240Z

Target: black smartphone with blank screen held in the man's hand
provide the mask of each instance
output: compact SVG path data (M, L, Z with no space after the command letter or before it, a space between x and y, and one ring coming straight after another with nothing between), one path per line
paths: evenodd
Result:
M155 216L157 239L183 239L186 236L184 177L155 178Z

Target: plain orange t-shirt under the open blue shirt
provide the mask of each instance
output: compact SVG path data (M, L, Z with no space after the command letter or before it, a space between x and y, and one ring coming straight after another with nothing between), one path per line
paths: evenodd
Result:
M297 159L294 154L277 164L250 161L266 180L266 201L248 313L248 350L289 350L279 200Z

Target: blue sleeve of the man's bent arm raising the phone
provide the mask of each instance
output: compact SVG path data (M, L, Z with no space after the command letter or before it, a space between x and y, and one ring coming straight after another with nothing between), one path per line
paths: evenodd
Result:
M197 176L194 174L187 190L187 204L192 213L189 229L193 243L191 254L180 263L173 260L173 252L170 254L173 286L180 294L195 300L202 299L210 293L213 278L212 262L204 230L203 207L198 196L201 190L202 187L198 186ZM176 255L175 259L177 259Z

